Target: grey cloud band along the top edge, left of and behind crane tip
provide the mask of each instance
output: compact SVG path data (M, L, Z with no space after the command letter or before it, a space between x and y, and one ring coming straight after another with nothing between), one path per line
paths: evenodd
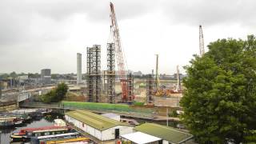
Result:
M110 2L106 0L92 1L92 0L6 0L6 7L18 13L38 13L39 15L56 18L57 20L67 18L72 14L86 14L92 20L108 20L110 14ZM117 0L114 6L118 11L118 18L136 17L140 14L145 14L146 11L152 10L150 7L154 6L154 1L149 0Z

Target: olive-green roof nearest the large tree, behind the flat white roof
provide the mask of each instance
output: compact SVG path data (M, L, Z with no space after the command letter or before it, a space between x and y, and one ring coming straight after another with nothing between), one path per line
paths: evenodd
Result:
M150 134L158 138L162 138L172 143L186 142L193 137L192 134L188 134L169 126L162 126L155 123L145 123L140 126L136 126L134 130L141 131L142 133Z

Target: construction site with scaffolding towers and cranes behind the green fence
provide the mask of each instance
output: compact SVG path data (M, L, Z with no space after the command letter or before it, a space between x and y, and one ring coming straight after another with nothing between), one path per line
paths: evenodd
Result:
M159 78L158 57L155 54L155 69L143 78L134 78L121 42L114 5L110 2L110 41L106 47L94 45L86 48L86 102L122 103L141 106L168 106L180 108L182 78L178 64L175 80ZM202 26L199 26L200 54L204 54ZM102 70L101 50L106 49L107 69ZM154 74L155 71L155 74Z

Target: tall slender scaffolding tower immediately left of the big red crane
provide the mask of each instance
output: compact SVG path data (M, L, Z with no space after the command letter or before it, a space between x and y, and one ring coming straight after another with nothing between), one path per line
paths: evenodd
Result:
M108 103L115 103L115 47L107 43L106 95Z

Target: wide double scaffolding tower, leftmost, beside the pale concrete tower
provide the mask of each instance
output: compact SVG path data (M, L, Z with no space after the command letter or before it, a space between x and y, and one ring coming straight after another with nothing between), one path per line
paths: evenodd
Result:
M87 96L89 102L100 102L102 95L101 46L87 47Z

